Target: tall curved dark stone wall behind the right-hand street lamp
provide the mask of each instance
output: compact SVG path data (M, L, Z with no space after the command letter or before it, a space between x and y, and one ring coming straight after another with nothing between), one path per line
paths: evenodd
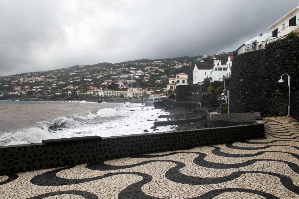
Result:
M284 115L289 93L287 77L283 77L285 83L277 83L283 73L291 76L291 116L299 121L299 37L269 43L262 50L234 58L230 113Z

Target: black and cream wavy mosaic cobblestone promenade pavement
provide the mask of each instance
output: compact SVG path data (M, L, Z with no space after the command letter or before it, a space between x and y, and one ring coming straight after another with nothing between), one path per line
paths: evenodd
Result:
M299 198L299 124L264 123L261 139L0 175L0 198Z

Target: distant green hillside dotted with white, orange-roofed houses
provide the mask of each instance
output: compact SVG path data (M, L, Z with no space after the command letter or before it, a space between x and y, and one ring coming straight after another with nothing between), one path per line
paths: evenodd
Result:
M80 99L163 98L167 97L167 90L175 89L176 85L192 82L190 76L194 65L206 66L206 63L213 63L216 57L227 54L77 65L16 74L0 78L0 96L25 99L64 99L70 96L80 96Z

